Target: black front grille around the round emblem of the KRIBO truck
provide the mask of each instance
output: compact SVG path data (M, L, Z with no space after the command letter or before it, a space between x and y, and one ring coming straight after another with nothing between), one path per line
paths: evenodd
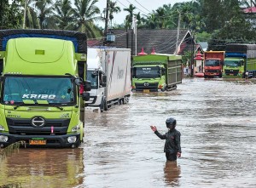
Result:
M6 118L9 134L50 135L51 127L55 135L67 134L70 119L45 119L44 127L33 127L31 119Z

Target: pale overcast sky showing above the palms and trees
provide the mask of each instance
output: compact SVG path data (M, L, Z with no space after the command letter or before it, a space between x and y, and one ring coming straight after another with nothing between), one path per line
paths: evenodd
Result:
M162 7L164 4L171 4L172 6L175 3L183 3L183 2L189 2L189 0L113 0L117 2L117 5L121 9L121 12L119 14L113 14L113 23L115 24L122 24L125 20L125 15L128 14L127 11L124 11L123 9L128 8L130 4L133 4L137 9L135 9L135 13L140 12L141 15L143 14L149 14L152 12L152 10L158 9L159 7ZM96 3L96 6L101 9L101 12L103 9L106 8L107 0L99 0L98 3ZM103 14L102 14L103 16ZM103 22L97 23L99 26L104 26Z

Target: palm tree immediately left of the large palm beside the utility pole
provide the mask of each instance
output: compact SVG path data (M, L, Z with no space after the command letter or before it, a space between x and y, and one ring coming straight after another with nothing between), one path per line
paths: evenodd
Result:
M70 0L59 0L55 3L55 20L61 30L71 30L73 25L74 10Z

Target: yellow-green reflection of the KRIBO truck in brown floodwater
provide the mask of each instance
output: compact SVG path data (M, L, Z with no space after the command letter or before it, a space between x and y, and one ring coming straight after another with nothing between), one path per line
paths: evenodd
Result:
M0 186L73 187L82 184L83 150L20 149L0 168Z

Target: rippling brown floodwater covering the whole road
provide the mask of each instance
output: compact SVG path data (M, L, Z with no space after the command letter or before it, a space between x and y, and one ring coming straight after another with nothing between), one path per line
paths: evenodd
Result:
M256 82L184 78L177 90L135 93L107 112L86 112L78 149L20 149L0 162L1 185L20 187L256 187ZM182 157L166 162L167 117Z

